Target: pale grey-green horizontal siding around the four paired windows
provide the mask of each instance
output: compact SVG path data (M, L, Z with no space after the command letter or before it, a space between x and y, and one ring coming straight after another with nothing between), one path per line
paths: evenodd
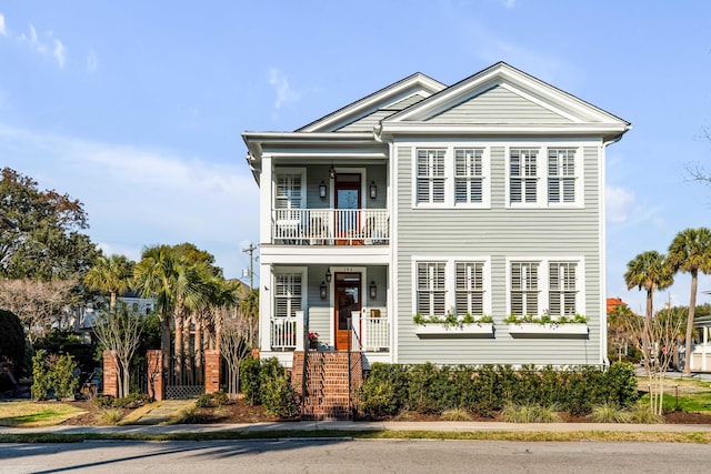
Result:
M557 143L551 140L551 143ZM414 145L398 145L398 353L400 363L599 364L602 300L600 266L599 147L582 148L584 206L507 208L505 147L491 151L491 209L422 209L413 206ZM494 335L489 339L420 339L412 322L413 256L491 259ZM507 258L582 259L589 336L513 337L509 334Z

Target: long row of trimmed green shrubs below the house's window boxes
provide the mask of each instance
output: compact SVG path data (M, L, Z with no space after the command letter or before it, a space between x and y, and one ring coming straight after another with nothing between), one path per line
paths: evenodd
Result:
M602 403L631 406L638 396L630 363L615 362L607 371L374 363L361 386L360 411L379 417L402 411L439 414L458 409L493 416L507 405L539 405L583 415Z

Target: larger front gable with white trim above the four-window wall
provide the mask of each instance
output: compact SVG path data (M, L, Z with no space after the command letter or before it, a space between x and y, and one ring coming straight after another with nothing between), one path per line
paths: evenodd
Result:
M492 113L494 112L494 113ZM498 62L382 120L381 133L595 133L621 137L630 123Z

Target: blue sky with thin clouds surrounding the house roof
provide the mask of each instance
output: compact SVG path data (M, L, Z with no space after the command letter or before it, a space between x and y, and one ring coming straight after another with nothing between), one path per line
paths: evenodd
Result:
M240 132L505 61L632 123L608 149L608 295L642 312L627 262L711 226L685 173L711 170L709 18L701 0L2 0L0 167L81 200L107 253L188 241L239 278L258 241ZM688 293L678 275L657 302Z

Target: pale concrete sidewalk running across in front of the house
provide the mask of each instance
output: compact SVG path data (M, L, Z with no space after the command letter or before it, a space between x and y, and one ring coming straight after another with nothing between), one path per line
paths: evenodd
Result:
M711 424L628 424L628 423L502 423L502 422L350 422L311 421L243 424L180 424L127 426L47 426L1 427L0 434L164 434L164 433L228 433L300 431L434 431L434 432L648 432L698 433L711 432Z

